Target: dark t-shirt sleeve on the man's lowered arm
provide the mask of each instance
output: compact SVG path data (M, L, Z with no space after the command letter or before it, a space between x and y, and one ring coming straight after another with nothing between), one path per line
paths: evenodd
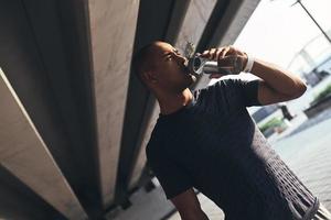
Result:
M167 199L192 188L190 175L164 152L147 147L147 163L160 182Z

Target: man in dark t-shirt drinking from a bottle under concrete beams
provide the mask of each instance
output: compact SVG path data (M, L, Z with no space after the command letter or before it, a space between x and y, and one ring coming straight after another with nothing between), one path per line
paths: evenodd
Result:
M248 56L231 46L202 56L220 66L228 66L228 57L236 56L247 69ZM145 46L134 58L138 77L160 106L146 148L148 163L181 218L209 219L194 187L222 208L227 220L331 219L271 150L246 110L300 97L306 90L300 78L255 59L248 72L260 79L223 79L191 91L196 78L185 63L164 42Z

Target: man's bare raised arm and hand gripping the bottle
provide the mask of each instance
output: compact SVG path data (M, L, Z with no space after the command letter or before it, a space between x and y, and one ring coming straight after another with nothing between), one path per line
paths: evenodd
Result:
M238 62L241 70L245 69L247 64L247 54L233 47L225 46L205 51L202 56L217 61L218 66L233 66L234 57ZM233 69L236 69L233 67ZM239 72L234 72L238 74ZM258 101L260 105L270 105L281 101L288 101L305 94L307 86L295 74L282 69L274 64L255 59L250 74L260 78L258 85ZM210 78L220 78L222 74L212 74Z

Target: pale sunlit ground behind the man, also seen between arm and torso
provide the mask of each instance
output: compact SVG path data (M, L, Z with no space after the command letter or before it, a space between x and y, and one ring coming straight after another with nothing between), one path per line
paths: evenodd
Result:
M303 121L306 120L301 122ZM317 118L308 123L311 127L274 142L273 147L327 209L331 210L331 119L321 121ZM301 128L302 125L305 124ZM299 129L300 124L296 127ZM224 219L223 212L206 197L200 194L199 200L211 220ZM177 212L169 220L180 220L180 216Z

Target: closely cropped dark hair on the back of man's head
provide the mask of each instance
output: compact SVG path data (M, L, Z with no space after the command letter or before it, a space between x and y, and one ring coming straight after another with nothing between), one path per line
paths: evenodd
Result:
M141 47L132 57L132 69L139 80L145 85L142 80L142 73L148 68L147 61L150 58L152 53L152 47L156 45L156 42L151 42L143 47Z

